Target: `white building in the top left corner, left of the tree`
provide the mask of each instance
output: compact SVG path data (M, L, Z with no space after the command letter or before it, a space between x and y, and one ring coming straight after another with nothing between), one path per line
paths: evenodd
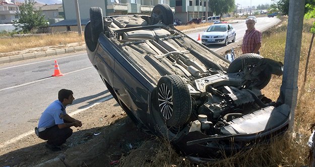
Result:
M19 5L10 0L0 1L0 24L14 23L15 20L19 20L17 12L19 12Z

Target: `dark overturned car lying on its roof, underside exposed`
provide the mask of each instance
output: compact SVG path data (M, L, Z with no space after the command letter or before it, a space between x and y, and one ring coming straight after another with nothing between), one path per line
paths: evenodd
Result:
M91 63L123 110L190 159L222 158L288 128L288 105L261 93L283 64L252 53L230 63L176 30L168 5L151 16L103 17L93 7L84 33Z

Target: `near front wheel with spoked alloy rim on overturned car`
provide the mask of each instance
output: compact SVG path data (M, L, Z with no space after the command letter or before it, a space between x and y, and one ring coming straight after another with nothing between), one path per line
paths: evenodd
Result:
M157 109L167 126L181 126L187 122L192 112L190 91L177 75L160 78L156 87Z

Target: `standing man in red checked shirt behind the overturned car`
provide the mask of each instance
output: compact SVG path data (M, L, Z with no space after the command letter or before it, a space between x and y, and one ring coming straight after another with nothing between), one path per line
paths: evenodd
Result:
M249 18L246 20L247 30L243 37L242 52L260 54L259 49L262 46L262 33L255 29L255 20Z

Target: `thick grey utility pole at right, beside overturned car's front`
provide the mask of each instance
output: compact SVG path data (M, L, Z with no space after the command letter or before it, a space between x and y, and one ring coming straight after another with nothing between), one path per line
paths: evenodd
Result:
M297 100L297 78L300 62L305 0L290 0L287 39L280 99L291 108L289 130L293 129Z

